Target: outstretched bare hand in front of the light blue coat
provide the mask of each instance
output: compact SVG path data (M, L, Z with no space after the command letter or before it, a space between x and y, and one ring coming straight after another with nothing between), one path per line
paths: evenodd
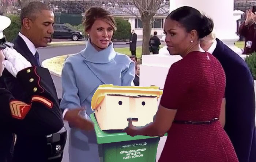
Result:
M85 131L91 131L94 129L94 123L79 115L79 112L82 110L84 110L84 108L68 110L64 116L64 120L67 120L68 123L73 127Z

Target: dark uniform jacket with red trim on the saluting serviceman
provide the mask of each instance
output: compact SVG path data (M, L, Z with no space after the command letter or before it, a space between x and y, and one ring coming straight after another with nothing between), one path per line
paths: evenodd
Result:
M44 77L41 78L41 76ZM33 78L32 82L30 82L31 78ZM32 162L35 159L36 161L46 161L47 154L43 149L44 147L46 149L46 143L38 137L56 133L64 125L59 100L54 96L53 81L48 69L36 66L20 71L17 74L17 80L27 92L30 102L24 103L15 100L10 91L0 88L0 123L5 123L1 126L1 129L4 128L8 133L17 134L16 145L18 146L15 145L14 162ZM37 87L36 91L35 87ZM20 115L16 113L19 111ZM18 140L20 136L26 138ZM20 146L19 142L25 142L26 145ZM20 149L23 149L23 151ZM45 155L42 156L41 154Z

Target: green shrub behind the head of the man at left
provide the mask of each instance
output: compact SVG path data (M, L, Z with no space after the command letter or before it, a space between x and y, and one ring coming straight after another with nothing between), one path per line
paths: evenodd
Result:
M4 35L7 41L11 42L20 31L20 17L17 15L6 15L11 19L11 25L4 30Z

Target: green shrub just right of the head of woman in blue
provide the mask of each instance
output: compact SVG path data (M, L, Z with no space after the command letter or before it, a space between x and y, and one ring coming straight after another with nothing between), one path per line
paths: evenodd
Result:
M123 41L129 39L131 36L131 24L120 17L115 17L115 20L117 30L114 32L113 39Z

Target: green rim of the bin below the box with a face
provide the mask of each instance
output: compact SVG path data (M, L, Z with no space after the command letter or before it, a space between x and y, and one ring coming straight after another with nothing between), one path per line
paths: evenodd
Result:
M122 130L102 131L99 128L98 122L95 118L95 114L92 113L90 115L90 117L91 117L91 121L94 122L94 130L96 133L96 138L97 138L98 144L122 142L122 141L132 141L132 140L138 140L138 139L158 138L158 137L149 137L149 136L143 136L143 135L136 135L134 137L131 137L130 135L128 135L126 133L122 133L121 132ZM167 136L167 133L164 136Z

